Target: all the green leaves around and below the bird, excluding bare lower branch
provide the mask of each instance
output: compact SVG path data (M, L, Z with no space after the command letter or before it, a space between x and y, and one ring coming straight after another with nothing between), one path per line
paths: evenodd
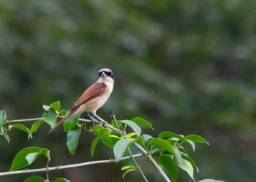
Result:
M32 133L36 132L41 126L42 122L50 125L53 128L56 125L56 119L60 117L60 102L51 103L50 106L43 106L45 113L42 115L42 119L34 122L31 125L31 129L24 126L23 124L10 125L6 113L0 111L0 123L1 132L4 133L4 137L7 138L8 132L12 128L16 128L28 134L28 139L32 138ZM169 178L176 182L178 179L178 168L186 171L192 180L194 178L194 169L197 169L197 165L194 160L189 157L189 154L185 150L184 144L189 144L195 151L195 143L208 143L204 138L199 135L178 135L174 132L161 132L158 137L154 138L148 134L142 134L140 126L148 127L153 130L150 122L136 117L131 120L116 120L113 115L113 125L111 127L104 127L101 124L90 125L89 129L86 128L86 124L80 123L79 116L73 116L69 119L72 124L64 123L64 132L67 132L67 148L71 155L75 154L75 150L78 146L80 133L83 131L93 132L96 138L91 143L91 155L94 155L94 151L97 148L97 143L102 141L106 147L113 149L113 154L115 156L115 162L120 162L126 151L132 157L132 151L129 146L137 143L147 151L147 154L151 155L156 159L158 164L168 173ZM6 127L8 130L6 129ZM116 127L116 130L111 128ZM130 131L130 132L128 132ZM38 146L30 146L25 149L21 149L18 154L15 155L10 170L19 170L29 167L34 163L39 156L45 156L48 161L46 162L46 167L50 162L50 151L45 148ZM147 181L146 176L144 176L140 166L136 162L135 158L132 157L132 165L124 165L121 170L123 171L122 177L124 178L128 173L134 171L140 171L143 175L145 181ZM198 171L198 170L197 170ZM25 180L29 181L45 181L45 179L39 176L31 176ZM46 179L49 181L49 178ZM56 179L56 182L68 181L64 178Z

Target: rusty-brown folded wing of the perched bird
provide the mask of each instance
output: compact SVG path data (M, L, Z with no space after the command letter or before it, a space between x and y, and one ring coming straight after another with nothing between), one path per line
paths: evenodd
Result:
M96 82L94 84L91 84L91 86L83 92L80 98L78 98L78 100L75 101L70 111L74 111L76 110L76 108L78 108L83 103L86 103L88 100L91 100L99 95L102 95L102 93L105 92L106 87L107 86L104 83Z

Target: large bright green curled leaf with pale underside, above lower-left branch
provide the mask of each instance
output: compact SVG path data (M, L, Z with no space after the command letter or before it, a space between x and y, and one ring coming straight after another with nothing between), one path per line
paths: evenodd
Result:
M14 157L10 170L19 170L27 167L31 165L40 155L45 155L48 157L48 160L50 160L50 151L48 149L42 149L37 146L30 146L22 149Z

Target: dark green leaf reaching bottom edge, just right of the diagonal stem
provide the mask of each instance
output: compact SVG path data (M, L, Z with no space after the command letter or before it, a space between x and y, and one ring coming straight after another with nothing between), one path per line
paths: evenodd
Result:
M162 156L157 159L157 162L159 162L159 164L162 165L165 170L167 170L171 181L176 182L178 179L178 167L173 159L167 156Z

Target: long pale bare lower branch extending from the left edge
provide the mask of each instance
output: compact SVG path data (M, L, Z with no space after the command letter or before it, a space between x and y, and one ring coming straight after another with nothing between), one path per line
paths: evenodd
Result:
M143 156L143 154L135 154L132 157L140 157L140 156ZM131 156L122 157L121 160L129 159L129 158L131 158ZM24 174L24 173L49 172L52 170L64 170L64 169L73 168L73 167L82 167L82 166L86 166L86 165L97 165L97 164L113 163L113 162L116 162L116 160L115 159L97 160L97 161L91 161L91 162L78 163L78 164L74 164L74 165L61 165L61 166L56 166L56 167L45 167L45 168L39 168L39 169L34 169L34 170L10 171L10 172L0 173L0 176L18 175L18 174Z

